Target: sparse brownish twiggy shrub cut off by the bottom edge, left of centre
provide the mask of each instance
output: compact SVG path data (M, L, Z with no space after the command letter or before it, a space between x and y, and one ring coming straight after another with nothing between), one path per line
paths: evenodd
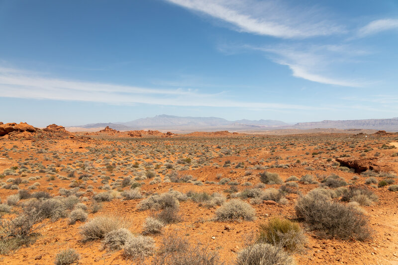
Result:
M152 265L223 265L217 252L202 244L190 244L188 237L176 233L163 237Z

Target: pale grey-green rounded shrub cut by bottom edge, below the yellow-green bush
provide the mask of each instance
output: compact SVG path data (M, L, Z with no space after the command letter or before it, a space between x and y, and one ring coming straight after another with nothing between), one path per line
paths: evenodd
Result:
M238 253L237 265L294 265L283 248L267 243L250 245Z

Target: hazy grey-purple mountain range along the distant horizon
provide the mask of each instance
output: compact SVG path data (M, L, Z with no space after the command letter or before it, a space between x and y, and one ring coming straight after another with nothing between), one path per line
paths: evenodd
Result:
M125 130L173 130L173 131L244 131L244 130L276 130L276 129L371 129L398 131L398 117L391 119L367 120L323 120L318 122L301 122L288 124L279 120L235 120L229 121L217 117L180 117L157 115L128 122L92 123L74 128L104 128Z

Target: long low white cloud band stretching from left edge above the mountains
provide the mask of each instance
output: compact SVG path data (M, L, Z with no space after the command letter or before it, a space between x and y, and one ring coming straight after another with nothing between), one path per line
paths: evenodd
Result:
M27 71L0 67L0 97L102 102L116 105L155 104L168 106L237 107L272 110L317 107L275 103L244 102L228 99L224 91L202 93L177 88L142 88L42 77ZM322 108L323 109L323 108Z

